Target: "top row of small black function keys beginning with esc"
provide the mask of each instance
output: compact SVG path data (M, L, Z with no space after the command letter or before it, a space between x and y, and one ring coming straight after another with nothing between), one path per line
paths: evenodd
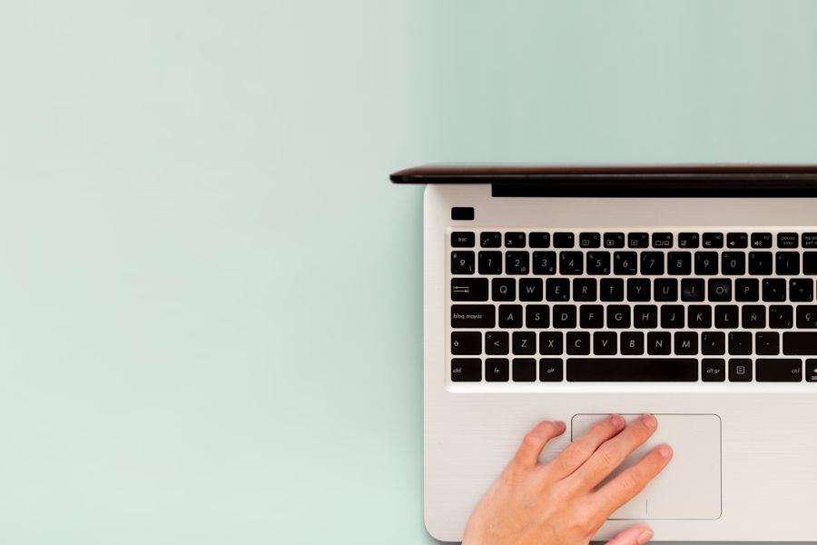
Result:
M482 248L672 248L673 233L524 233L498 231L479 233ZM577 240L576 240L577 239ZM778 233L778 248L797 248L802 241L803 248L817 248L817 233ZM477 245L477 234L456 231L451 233L451 246L473 248ZM772 248L772 233L678 233L679 248Z

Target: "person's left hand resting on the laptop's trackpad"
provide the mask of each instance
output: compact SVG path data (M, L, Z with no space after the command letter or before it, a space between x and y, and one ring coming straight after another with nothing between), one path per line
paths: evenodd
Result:
M613 511L632 500L672 458L669 445L659 445L598 487L657 427L655 417L648 414L628 426L614 414L570 443L556 459L540 464L547 441L566 430L565 422L540 422L471 513L463 545L588 543ZM652 538L653 530L637 524L609 544L644 545Z

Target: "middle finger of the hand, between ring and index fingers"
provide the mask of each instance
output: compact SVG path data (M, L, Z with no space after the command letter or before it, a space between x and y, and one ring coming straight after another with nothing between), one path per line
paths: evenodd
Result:
M570 478L575 480L576 487L580 490L595 489L627 456L643 445L657 427L658 421L651 414L630 422L624 431L610 441L605 441Z

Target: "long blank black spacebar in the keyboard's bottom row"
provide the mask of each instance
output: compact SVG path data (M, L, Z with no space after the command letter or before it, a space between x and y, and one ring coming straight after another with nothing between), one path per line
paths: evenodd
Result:
M694 382L693 358L567 358L572 382Z

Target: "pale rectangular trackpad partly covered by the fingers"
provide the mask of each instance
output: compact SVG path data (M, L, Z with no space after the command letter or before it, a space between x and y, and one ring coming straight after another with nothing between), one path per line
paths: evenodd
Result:
M576 414L573 441L605 414ZM627 422L639 414L622 414ZM658 430L631 454L612 479L655 446L665 442L673 460L633 500L616 510L611 520L717 519L721 516L721 419L715 414L655 414ZM609 481L608 479L608 481ZM602 486L606 483L602 483Z

